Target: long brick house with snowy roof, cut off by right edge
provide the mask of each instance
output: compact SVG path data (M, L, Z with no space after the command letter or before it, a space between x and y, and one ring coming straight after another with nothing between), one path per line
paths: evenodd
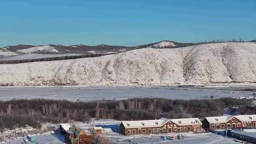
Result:
M256 128L256 115L205 117L202 121L205 129Z

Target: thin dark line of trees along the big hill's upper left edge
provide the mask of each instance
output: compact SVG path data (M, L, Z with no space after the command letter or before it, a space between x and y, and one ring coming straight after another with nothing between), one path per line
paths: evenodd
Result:
M58 61L58 60L69 60L69 59L77 59L77 58L85 58L85 57L98 57L103 55L110 55L110 54L82 54L82 55L69 55L69 56L60 56L60 57L45 57L45 58L37 58L37 59L10 60L10 61L0 61L0 64Z

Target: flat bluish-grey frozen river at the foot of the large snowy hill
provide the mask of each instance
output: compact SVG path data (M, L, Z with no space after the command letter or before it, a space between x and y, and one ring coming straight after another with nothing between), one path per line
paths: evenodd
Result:
M251 92L206 90L178 87L0 87L0 100L8 99L68 99L93 101L101 99L131 99L162 97L167 99L202 99L249 96Z

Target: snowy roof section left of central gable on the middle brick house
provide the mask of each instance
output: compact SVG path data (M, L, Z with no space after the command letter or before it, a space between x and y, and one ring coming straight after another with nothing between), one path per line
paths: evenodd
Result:
M163 126L169 119L122 121L125 128L142 128Z

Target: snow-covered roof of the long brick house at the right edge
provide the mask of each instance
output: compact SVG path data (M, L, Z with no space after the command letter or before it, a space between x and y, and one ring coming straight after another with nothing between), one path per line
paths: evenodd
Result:
M250 121L256 121L256 115L239 115L239 116L220 116L220 117L205 117L207 121L211 124L215 123L226 123L231 118L237 118L242 122L250 122Z

